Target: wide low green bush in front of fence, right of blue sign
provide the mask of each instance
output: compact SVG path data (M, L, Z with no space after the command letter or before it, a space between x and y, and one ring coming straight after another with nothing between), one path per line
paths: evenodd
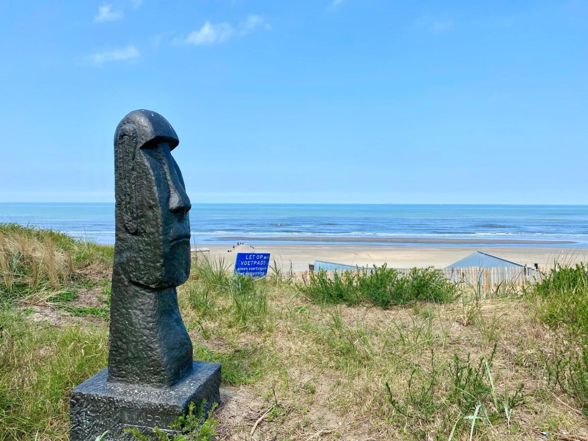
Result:
M320 270L311 276L308 285L300 285L299 289L319 305L369 302L380 308L419 301L447 303L456 296L456 285L439 270L413 268L404 276L386 265L373 270L335 272L332 279Z

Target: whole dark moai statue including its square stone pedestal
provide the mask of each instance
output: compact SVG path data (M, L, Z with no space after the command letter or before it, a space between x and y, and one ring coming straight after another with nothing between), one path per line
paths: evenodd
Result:
M73 440L131 439L126 427L176 433L191 402L219 402L220 365L192 360L176 287L190 273L191 208L171 151L176 132L138 110L115 132L116 240L108 368L71 395Z

